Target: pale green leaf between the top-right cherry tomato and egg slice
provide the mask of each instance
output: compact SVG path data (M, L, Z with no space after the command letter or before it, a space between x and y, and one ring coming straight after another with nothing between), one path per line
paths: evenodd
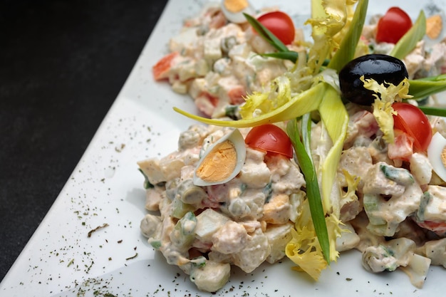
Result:
M407 31L404 36L395 44L395 47L390 51L389 55L395 58L403 59L408 56L408 53L413 51L426 34L426 16L424 11L420 11L418 19L413 24L412 28Z

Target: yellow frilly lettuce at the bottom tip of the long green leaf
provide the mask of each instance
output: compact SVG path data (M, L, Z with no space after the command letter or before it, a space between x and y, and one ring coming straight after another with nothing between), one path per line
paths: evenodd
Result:
M328 266L322 253L316 231L311 222L308 199L301 205L301 217L291 229L292 239L286 244L285 254L297 266L294 270L308 273L315 281L321 276L323 269ZM333 214L326 217L328 237L330 238L330 260L336 261L339 252L336 251L336 238L341 236L341 221Z

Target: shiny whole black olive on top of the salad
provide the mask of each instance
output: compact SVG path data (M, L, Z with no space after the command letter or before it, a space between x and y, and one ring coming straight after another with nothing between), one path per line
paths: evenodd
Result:
M378 53L348 62L339 72L342 97L360 105L371 105L375 101L375 92L364 88L364 83L359 79L362 75L380 84L386 82L398 85L404 78L408 78L408 70L398 58Z

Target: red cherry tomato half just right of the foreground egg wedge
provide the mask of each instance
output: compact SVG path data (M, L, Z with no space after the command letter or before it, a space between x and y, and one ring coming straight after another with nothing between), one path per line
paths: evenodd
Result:
M293 157L293 145L284 130L276 125L266 124L253 127L244 142L254 149L264 150L267 153Z

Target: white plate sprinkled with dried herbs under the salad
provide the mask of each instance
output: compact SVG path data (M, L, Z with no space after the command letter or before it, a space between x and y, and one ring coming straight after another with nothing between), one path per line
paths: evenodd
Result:
M1 296L210 296L169 266L140 235L145 215L143 178L136 162L176 150L177 137L192 122L172 106L195 112L190 98L155 83L151 67L167 53L167 42L182 20L206 1L171 0L147 41L130 77L56 202L0 286ZM252 1L257 8L277 5L303 24L310 0ZM390 5L413 19L432 1L370 0L370 13ZM445 1L435 1L440 7ZM88 237L96 226L108 224ZM133 259L133 256L138 253ZM245 274L237 268L217 296L440 296L446 273L432 267L417 289L400 272L371 274L361 254L349 251L323 271L318 282L291 271L291 264L264 265Z

